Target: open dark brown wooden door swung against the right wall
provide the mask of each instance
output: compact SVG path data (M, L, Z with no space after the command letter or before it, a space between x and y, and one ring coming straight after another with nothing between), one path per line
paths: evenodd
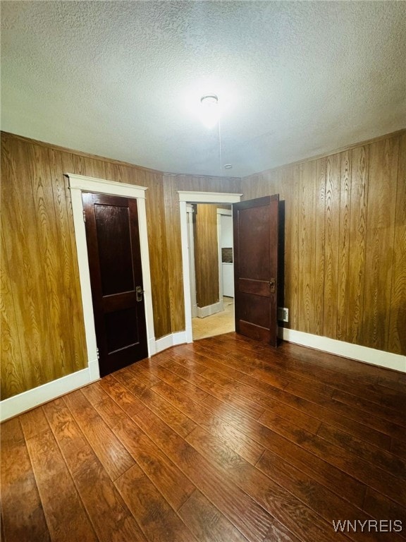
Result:
M235 331L278 342L279 195L233 205Z

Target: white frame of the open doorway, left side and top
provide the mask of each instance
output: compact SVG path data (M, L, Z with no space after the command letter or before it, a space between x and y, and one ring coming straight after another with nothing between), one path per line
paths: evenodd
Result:
M183 299L185 303L186 342L193 342L192 302L190 299L190 263L187 243L187 203L239 203L242 194L223 192L178 191L180 205L180 238L182 242Z

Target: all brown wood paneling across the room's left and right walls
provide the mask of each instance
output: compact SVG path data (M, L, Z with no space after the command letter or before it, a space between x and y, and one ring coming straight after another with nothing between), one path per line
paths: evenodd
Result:
M289 326L406 353L406 135L245 179L163 174L1 135L1 394L87 363L66 172L147 186L156 338L185 329L178 191L285 200Z

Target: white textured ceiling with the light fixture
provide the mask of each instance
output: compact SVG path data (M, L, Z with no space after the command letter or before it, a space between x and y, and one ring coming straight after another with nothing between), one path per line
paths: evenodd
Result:
M405 21L403 1L1 1L1 128L244 176L404 128Z

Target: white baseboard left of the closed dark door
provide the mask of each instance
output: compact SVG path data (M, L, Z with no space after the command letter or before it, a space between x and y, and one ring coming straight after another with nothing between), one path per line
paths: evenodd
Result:
M26 410L33 409L39 404L56 399L56 397L68 392L73 392L78 387L90 384L95 380L99 380L99 378L99 362L95 360L81 371L76 371L70 375L52 380L47 384L34 387L32 390L13 395L13 397L0 402L0 421L8 420L8 418L13 418L13 416L17 416Z

